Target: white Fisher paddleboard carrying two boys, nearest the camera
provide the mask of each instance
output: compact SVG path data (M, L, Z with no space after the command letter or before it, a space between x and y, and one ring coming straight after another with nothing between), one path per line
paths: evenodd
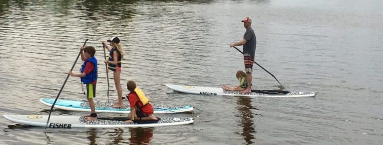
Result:
M48 115L3 115L9 121L28 126L45 127ZM115 127L157 127L185 125L194 122L193 118L161 118L158 123L135 124L121 121L122 117L98 117L94 121L86 121L82 116L51 115L48 128L115 128ZM100 119L101 118L101 119ZM125 120L127 117L123 117Z

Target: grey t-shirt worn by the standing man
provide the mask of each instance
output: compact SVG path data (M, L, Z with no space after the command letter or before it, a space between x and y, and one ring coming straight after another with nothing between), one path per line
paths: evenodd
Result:
M246 43L243 45L243 53L249 54L252 57L255 56L255 46L257 45L257 38L255 37L255 33L253 28L249 27L245 35L243 35L243 39L246 39Z

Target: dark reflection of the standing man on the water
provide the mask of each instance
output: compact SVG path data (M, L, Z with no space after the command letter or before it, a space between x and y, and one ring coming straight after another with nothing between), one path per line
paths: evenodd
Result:
M247 144L254 144L254 134L257 132L254 129L254 116L251 113L251 109L254 109L255 107L251 105L250 97L238 97L237 104L241 118L241 126L243 127L241 136Z

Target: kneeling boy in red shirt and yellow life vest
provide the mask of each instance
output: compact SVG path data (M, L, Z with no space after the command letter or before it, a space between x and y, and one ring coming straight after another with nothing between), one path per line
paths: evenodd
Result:
M148 99L145 97L143 92L137 91L136 83L133 80L129 80L126 83L128 90L130 93L126 98L129 100L130 104L130 114L125 123L132 123L133 121L150 121L150 120L158 120L157 117L153 116L153 106L149 103ZM140 96L139 96L140 95ZM140 99L141 98L141 99ZM142 100L142 101L141 101ZM144 101L144 102L143 102ZM146 104L143 104L146 103Z

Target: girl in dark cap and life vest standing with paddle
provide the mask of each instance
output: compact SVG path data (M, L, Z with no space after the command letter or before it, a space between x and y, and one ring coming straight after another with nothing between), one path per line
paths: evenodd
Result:
M113 71L114 84L116 86L118 102L113 104L114 108L122 107L122 87L121 87L121 59L124 57L124 52L120 45L120 39L117 36L113 36L109 40L111 48L106 45L105 41L102 42L102 47L105 47L109 51L109 59L105 60L108 63L108 69Z

